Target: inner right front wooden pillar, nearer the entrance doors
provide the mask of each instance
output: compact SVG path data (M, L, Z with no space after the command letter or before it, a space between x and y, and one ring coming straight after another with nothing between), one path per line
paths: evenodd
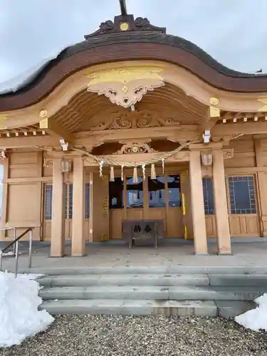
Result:
M206 222L204 211L200 151L190 152L189 174L192 200L194 253L196 255L207 255L208 244L206 239Z

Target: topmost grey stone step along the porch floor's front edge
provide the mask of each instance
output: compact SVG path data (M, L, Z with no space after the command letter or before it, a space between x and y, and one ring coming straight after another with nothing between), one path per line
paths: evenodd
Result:
M197 256L196 256L197 258ZM267 266L99 266L66 268L31 268L20 269L19 273L37 273L48 276L81 274L266 274Z

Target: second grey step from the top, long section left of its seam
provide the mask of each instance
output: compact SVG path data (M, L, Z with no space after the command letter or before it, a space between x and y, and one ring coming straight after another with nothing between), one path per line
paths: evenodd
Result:
M267 276L266 276L267 278ZM107 274L78 276L45 276L38 279L41 286L209 286L205 275L177 274Z

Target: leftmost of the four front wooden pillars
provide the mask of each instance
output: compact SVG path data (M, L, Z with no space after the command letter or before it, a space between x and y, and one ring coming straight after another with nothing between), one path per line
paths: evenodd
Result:
M65 254L65 189L61 159L53 159L53 196L51 221L51 257Z

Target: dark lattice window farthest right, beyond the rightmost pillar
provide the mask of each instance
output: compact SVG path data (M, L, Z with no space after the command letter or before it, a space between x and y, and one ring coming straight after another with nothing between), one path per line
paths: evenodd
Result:
M231 214L256 214L253 176L229 177Z

